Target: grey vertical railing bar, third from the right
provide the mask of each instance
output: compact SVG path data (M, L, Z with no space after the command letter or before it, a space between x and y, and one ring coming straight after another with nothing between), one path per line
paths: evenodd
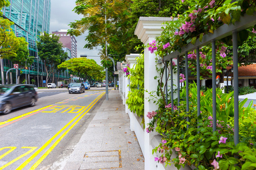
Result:
M196 48L196 83L197 83L197 117L200 116L200 58L199 58L199 47ZM197 123L199 123L197 119ZM200 128L200 126L197 126Z

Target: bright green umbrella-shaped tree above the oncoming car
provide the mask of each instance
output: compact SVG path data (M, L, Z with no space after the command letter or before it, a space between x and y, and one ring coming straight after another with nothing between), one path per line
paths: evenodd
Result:
M65 68L73 71L73 73L79 76L79 82L82 76L96 76L99 71L103 70L103 68L99 66L94 59L88 58L72 58L61 63L57 67L59 69Z

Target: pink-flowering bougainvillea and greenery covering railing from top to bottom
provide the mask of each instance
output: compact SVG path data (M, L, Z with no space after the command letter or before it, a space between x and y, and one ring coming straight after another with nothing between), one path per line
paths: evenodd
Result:
M184 1L181 1L183 3ZM235 24L243 15L254 15L256 1L253 0L205 0L189 1L189 8L184 14L176 14L172 22L166 23L162 35L148 44L148 50L155 53L160 59L189 43L195 44L201 41L204 35L214 33L214 30L224 24ZM251 33L255 33L256 27L244 29L238 32L238 45L242 44ZM216 72L220 72L227 65L232 65L232 58L227 57L227 46L232 45L232 37L228 36L216 41ZM212 48L204 46L199 50L200 72L211 75L212 73ZM196 73L196 52L188 53L189 69ZM177 62L183 59L177 58ZM177 101L174 104L166 103L163 82L164 69L169 68L170 62L163 62L163 68L158 69L157 94L159 99L157 111L148 112L151 118L146 131L152 130L162 134L163 140L153 152L162 154L155 158L159 163L166 165L174 163L179 169L185 164L195 165L198 169L256 169L256 113L255 110L243 108L240 103L240 143L234 145L233 134L233 94L222 94L217 90L217 131L212 132L212 91L200 92L201 116L197 117L197 88L189 87L189 112L187 112L185 90L181 91L179 109ZM172 70L171 70L172 71ZM170 70L168 70L168 74ZM169 76L168 76L169 78ZM180 82L184 81L184 75L180 75ZM184 88L184 87L183 87ZM172 109L170 108L175 108ZM186 121L189 117L189 122ZM189 128L187 129L187 125ZM200 126L200 128L197 128ZM177 157L171 160L172 152Z

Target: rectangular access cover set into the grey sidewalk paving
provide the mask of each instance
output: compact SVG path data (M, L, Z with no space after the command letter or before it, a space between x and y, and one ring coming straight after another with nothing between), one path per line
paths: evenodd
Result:
M80 170L122 168L121 150L85 152Z

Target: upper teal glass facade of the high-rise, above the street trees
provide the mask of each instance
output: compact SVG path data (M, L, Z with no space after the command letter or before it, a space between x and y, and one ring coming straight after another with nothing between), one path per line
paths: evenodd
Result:
M9 0L10 6L4 7L3 17L14 22L12 29L17 37L28 42L30 56L37 56L36 36L39 32L49 33L51 0Z

